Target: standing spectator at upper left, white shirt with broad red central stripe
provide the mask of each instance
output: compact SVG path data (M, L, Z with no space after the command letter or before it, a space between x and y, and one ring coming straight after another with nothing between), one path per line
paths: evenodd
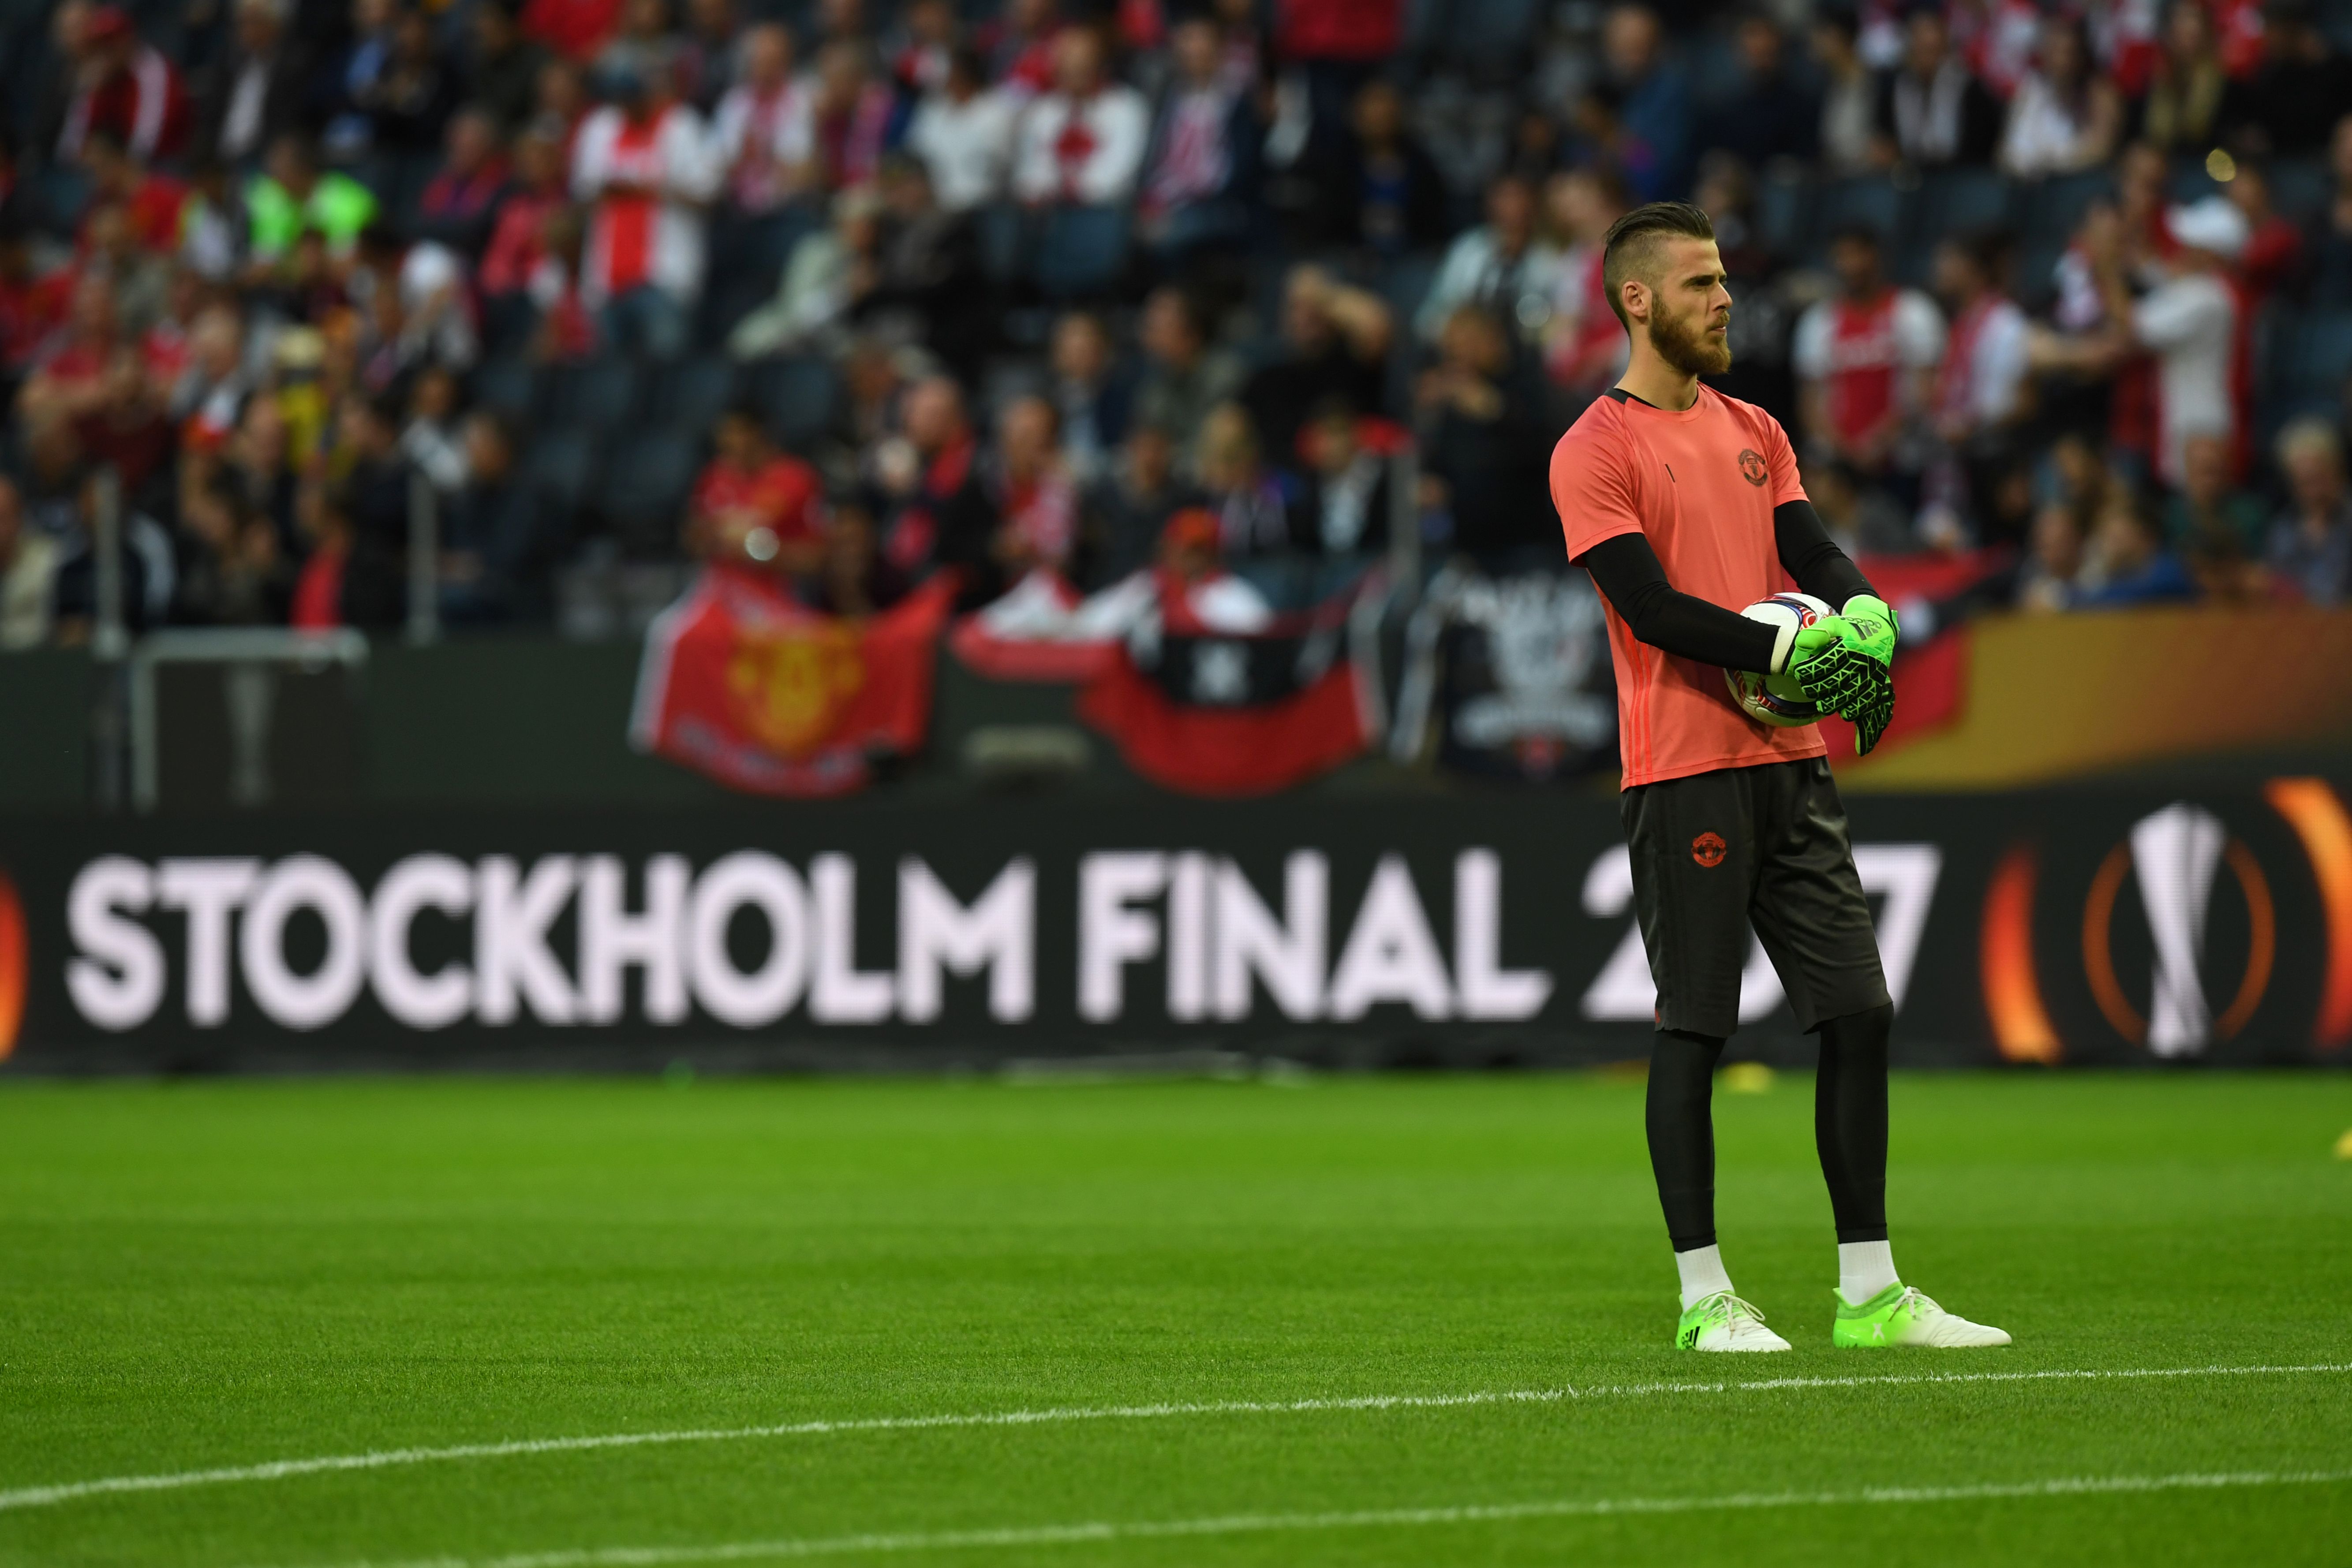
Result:
M602 331L656 360L687 348L687 310L703 287L703 202L717 174L701 115L670 75L619 78L616 101L581 122L572 190L593 205L581 299Z

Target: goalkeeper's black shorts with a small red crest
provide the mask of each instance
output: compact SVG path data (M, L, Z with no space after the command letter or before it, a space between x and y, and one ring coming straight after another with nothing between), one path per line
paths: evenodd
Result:
M1661 1030L1724 1039L1738 1027L1750 926L1806 1032L1886 1006L1828 759L1635 785L1621 811Z

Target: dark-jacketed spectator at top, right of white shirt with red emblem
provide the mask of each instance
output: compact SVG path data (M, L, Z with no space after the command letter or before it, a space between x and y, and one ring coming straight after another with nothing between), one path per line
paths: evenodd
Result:
M1242 237L1240 195L1256 148L1247 94L1225 73L1223 40L1207 16L1169 35L1174 80L1160 101L1138 216L1145 242L1181 263L1204 244Z

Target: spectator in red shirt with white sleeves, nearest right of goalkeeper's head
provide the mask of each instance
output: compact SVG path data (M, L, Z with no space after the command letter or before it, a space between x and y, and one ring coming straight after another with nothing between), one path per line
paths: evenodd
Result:
M1872 228L1842 228L1830 266L1837 294L1799 317L1790 348L1804 437L1823 458L1872 480L1917 475L1919 421L1933 407L1943 362L1943 313L1926 294L1886 282Z

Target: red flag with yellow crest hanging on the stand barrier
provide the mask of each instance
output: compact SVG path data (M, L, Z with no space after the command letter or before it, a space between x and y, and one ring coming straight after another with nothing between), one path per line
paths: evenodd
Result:
M644 635L630 743L755 795L847 795L931 722L931 661L955 585L873 621L795 604L783 585L706 569Z

